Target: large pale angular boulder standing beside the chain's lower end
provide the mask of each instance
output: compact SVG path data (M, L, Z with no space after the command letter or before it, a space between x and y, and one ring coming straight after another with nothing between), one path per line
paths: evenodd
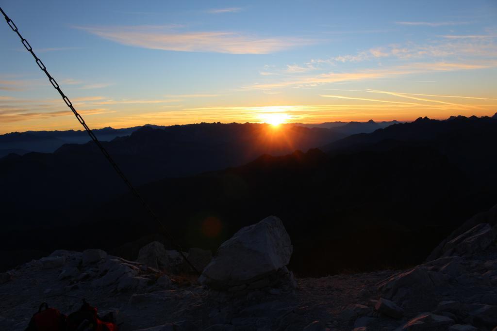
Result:
M269 216L224 242L199 281L219 289L248 284L288 265L292 251L283 222Z

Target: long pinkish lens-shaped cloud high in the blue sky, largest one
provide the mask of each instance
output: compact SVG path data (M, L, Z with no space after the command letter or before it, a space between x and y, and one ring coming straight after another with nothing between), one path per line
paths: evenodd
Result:
M269 54L315 43L290 37L262 37L237 32L178 32L164 26L78 27L119 44L179 52Z

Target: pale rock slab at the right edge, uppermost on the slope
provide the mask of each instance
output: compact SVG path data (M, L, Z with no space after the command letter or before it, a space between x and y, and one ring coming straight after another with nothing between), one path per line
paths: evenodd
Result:
M488 223L481 223L447 242L443 247L444 256L471 255L483 251L496 239L496 233Z

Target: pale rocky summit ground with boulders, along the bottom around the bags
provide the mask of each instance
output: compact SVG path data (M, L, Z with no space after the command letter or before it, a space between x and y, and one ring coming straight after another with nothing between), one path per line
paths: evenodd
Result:
M291 243L274 216L241 229L212 261L190 250L200 282L156 242L139 262L56 251L1 274L0 330L24 330L41 302L69 314L83 298L122 331L497 330L496 226L485 221L456 231L422 265L323 278L286 269Z

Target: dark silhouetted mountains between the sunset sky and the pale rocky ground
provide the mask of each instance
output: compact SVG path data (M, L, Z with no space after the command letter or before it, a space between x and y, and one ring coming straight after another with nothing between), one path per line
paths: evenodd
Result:
M215 248L254 219L277 215L300 275L414 265L497 201L496 116L421 118L341 139L292 126L169 128L105 143L135 183L149 183L139 191L169 231L185 247ZM310 146L322 147L293 152ZM0 159L8 220L0 251L22 260L91 246L136 258L133 247L161 230L133 196L118 196L125 187L105 162L89 143ZM216 171L199 174L205 170ZM223 224L219 236L202 235L209 217Z

